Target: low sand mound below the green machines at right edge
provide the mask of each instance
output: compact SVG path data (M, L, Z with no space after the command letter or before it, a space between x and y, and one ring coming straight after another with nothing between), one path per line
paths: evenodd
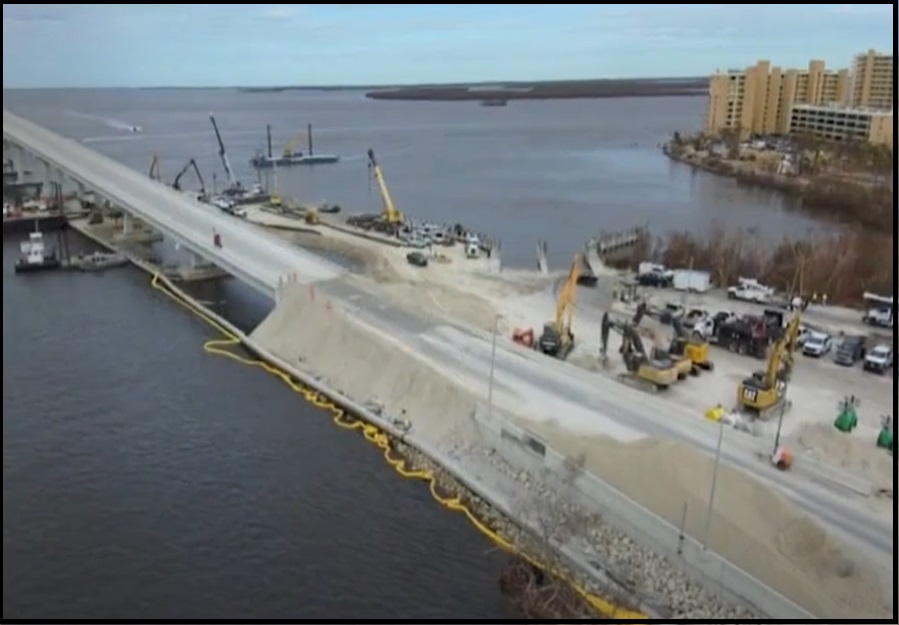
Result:
M878 488L893 487L893 457L876 447L875 438L840 432L825 423L803 423L795 437L816 460L858 473Z

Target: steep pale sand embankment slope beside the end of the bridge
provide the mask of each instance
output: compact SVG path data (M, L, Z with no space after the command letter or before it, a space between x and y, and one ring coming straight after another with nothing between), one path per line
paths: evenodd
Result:
M476 398L426 360L366 328L308 287L288 285L252 337L332 388L439 437L474 411Z

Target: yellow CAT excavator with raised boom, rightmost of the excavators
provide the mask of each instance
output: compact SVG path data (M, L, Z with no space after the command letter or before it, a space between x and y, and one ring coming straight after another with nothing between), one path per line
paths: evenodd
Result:
M799 335L800 316L793 315L783 336L772 346L768 365L756 371L737 387L737 405L751 416L763 421L781 410L789 410L786 397L787 382L793 369L793 351Z

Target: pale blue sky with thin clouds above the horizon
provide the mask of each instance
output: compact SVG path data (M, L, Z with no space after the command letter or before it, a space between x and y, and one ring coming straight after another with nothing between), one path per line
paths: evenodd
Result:
M846 67L892 4L4 4L3 87L393 85Z

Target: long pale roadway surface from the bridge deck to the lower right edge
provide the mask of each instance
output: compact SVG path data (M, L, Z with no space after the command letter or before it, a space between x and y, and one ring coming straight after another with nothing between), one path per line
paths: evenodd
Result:
M340 269L314 254L287 245L250 224L200 206L141 174L102 157L18 117L3 113L3 134L14 143L58 164L69 175L110 199L135 210L154 227L183 241L196 253L220 264L238 279L272 297L280 276L299 272L301 280L322 281L319 288L352 304L360 318L382 332L420 350L458 376L486 380L490 337L457 325L436 324L391 304L362 283L334 278ZM223 234L223 250L212 245L212 230ZM578 413L594 420L610 436L659 436L680 439L701 451L714 453L717 430L685 409L661 397L624 387L537 354L522 355L500 341L496 384L521 398L523 405L540 406L546 414ZM574 428L573 428L574 429ZM731 436L722 448L724 462L741 467L780 488L799 507L824 525L849 538L851 544L884 562L892 561L893 523L876 516L845 496L796 475L773 470L754 455L742 437ZM886 559L884 559L886 558Z

